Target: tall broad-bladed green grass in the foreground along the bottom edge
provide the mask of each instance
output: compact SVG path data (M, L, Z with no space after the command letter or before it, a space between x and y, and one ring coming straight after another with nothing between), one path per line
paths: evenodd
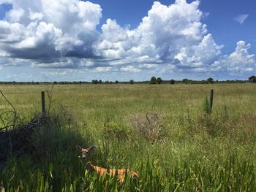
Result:
M144 164L145 163L145 164ZM56 170L55 170L56 169ZM124 184L118 187L117 177L98 176L96 173L74 172L72 177L67 169L58 169L50 164L47 172L39 169L28 172L26 179L12 176L4 181L6 191L255 191L255 168L246 161L239 162L236 157L222 166L214 164L209 170L200 163L183 164L170 167L165 172L153 161L140 162L139 177L132 179L127 175ZM19 174L18 170L13 173ZM61 173L61 174L60 174ZM55 174L60 174L55 176ZM17 180L18 183L12 182Z

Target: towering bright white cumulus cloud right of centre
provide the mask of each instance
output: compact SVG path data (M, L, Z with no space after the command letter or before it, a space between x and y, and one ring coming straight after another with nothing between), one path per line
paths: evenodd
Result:
M122 28L116 20L108 19L102 26L96 50L103 57L124 58L124 63L135 66L211 64L220 55L221 46L216 45L211 34L207 34L206 25L200 22L203 12L198 6L199 1L189 4L177 0L170 6L156 1L134 29ZM135 72L128 66L121 68L124 69Z

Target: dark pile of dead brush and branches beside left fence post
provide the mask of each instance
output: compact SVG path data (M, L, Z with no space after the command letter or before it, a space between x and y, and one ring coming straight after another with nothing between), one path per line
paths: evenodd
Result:
M36 115L29 123L22 123L18 117L15 107L8 101L4 93L0 90L0 95L12 110L0 111L0 163L6 161L10 155L22 155L31 153L35 149L35 141L32 134L37 128L47 126L51 118ZM21 123L20 123L21 122Z

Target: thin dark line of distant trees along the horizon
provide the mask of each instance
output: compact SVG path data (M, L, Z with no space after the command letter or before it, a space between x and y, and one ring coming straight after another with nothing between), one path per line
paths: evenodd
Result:
M16 82L16 81L12 81L12 82L0 82L0 84L27 84L27 85L38 85L38 84L47 84L47 83L53 83L53 84L59 84L59 85L66 85L66 84L75 84L75 85L79 85L79 84L102 84L102 85L111 85L111 84L152 84L152 85L159 85L159 84L180 84L180 83L184 83L184 84L213 84L213 83L246 83L246 82L256 82L256 76L252 75L251 77L248 78L248 80L214 80L212 77L209 77L206 80L189 80L187 78L183 79L183 80L162 80L161 77L151 77L150 80L148 81L135 81L135 80L129 80L129 81L102 81L102 80L91 80L91 82L87 82L87 81L61 81L61 82L57 82L57 81L53 81L53 82Z

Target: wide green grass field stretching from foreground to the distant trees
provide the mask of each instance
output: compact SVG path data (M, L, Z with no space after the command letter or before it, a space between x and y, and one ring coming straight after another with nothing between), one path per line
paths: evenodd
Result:
M1 85L23 122L40 112L45 85ZM204 110L214 88L212 114ZM10 110L0 99L0 111ZM256 191L256 85L55 85L59 123L34 134L45 154L10 156L5 191ZM121 189L89 174L91 162L138 172Z

